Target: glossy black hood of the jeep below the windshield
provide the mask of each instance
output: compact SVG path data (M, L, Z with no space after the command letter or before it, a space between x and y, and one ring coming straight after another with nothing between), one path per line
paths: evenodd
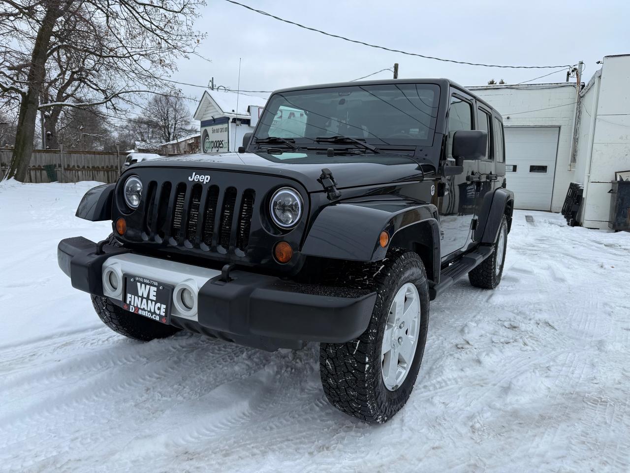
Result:
M133 168L190 168L207 173L212 169L232 172L282 176L301 182L308 192L322 191L318 182L323 168L333 173L338 189L363 185L389 184L420 180L420 165L407 156L352 155L328 157L321 151L302 151L270 155L268 153L223 153L221 155L183 155L142 161Z

